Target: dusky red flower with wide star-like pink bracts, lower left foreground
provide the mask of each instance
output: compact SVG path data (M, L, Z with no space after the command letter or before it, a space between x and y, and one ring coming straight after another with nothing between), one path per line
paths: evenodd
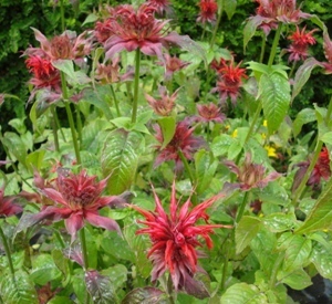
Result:
M33 214L30 224L48 219L59 221L64 219L68 232L72 241L76 238L77 231L84 226L84 220L92 226L102 227L107 230L120 232L117 223L105 217L98 216L98 209L110 206L118 207L124 203L121 197L101 197L106 187L107 179L95 181L96 176L87 176L85 170L79 175L72 172L58 172L54 186L43 185L38 176L37 186L40 192L54 201L54 206L48 206L40 213Z

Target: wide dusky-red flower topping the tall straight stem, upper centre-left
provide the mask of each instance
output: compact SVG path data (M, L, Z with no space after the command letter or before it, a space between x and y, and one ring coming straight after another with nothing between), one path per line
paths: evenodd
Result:
M166 34L165 25L169 20L155 19L156 10L148 3L143 3L137 11L128 4L117 7L107 23L111 36L105 41L106 59L123 50L132 52L139 49L142 53L164 61L163 48L187 43L188 36L183 38L176 32Z

